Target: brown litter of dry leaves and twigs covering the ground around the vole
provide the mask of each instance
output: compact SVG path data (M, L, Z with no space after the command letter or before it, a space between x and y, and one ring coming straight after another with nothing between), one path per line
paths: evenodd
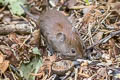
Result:
M17 1L17 0L13 0ZM27 0L42 11L43 0ZM48 56L44 38L31 29L31 34L10 33L0 36L0 79L9 80L119 80L120 79L120 2L119 0L49 0L52 8L68 17L86 46L87 59L72 61L72 70L62 76L65 60ZM0 0L0 4L3 0ZM0 24L27 21L17 4L0 5ZM11 7L10 7L11 6ZM17 10L15 8L17 6ZM8 9L9 8L9 9ZM34 8L32 12L34 11ZM6 12L7 11L7 12ZM11 14L11 15L10 15ZM12 16L19 15L18 17ZM5 16L7 18L4 18ZM6 22L5 22L6 21ZM34 22L29 24L36 27ZM17 23L15 23L17 24ZM69 61L68 61L69 62ZM70 61L71 63L71 61ZM54 64L54 66L53 66ZM63 66L61 66L61 65Z

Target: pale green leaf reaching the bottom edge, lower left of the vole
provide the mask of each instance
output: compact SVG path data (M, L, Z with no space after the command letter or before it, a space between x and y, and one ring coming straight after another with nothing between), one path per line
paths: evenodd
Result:
M40 58L40 56L36 56L32 59L30 63L28 64L22 63L20 67L20 74L26 80L35 80L35 76L32 76L30 73L37 74L41 66L42 66L42 58Z

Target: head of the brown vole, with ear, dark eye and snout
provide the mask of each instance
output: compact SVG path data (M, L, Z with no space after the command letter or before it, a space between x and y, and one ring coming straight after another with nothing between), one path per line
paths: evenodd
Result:
M68 58L81 58L84 55L83 45L79 36L72 32L71 35L66 35L64 33L57 33L55 41L58 44L57 51L62 53L62 56Z

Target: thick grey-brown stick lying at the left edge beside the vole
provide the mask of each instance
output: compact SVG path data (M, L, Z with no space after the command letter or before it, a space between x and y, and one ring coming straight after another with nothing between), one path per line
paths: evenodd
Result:
M0 24L0 35L6 35L12 32L18 34L30 34L33 27L29 23L18 23L18 24Z

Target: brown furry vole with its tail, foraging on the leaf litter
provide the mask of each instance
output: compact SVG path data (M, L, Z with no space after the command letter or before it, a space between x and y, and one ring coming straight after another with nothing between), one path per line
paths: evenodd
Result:
M34 18L53 53L67 59L82 58L84 56L80 36L66 16L57 10L48 9L36 18L26 8L22 8L30 17Z

